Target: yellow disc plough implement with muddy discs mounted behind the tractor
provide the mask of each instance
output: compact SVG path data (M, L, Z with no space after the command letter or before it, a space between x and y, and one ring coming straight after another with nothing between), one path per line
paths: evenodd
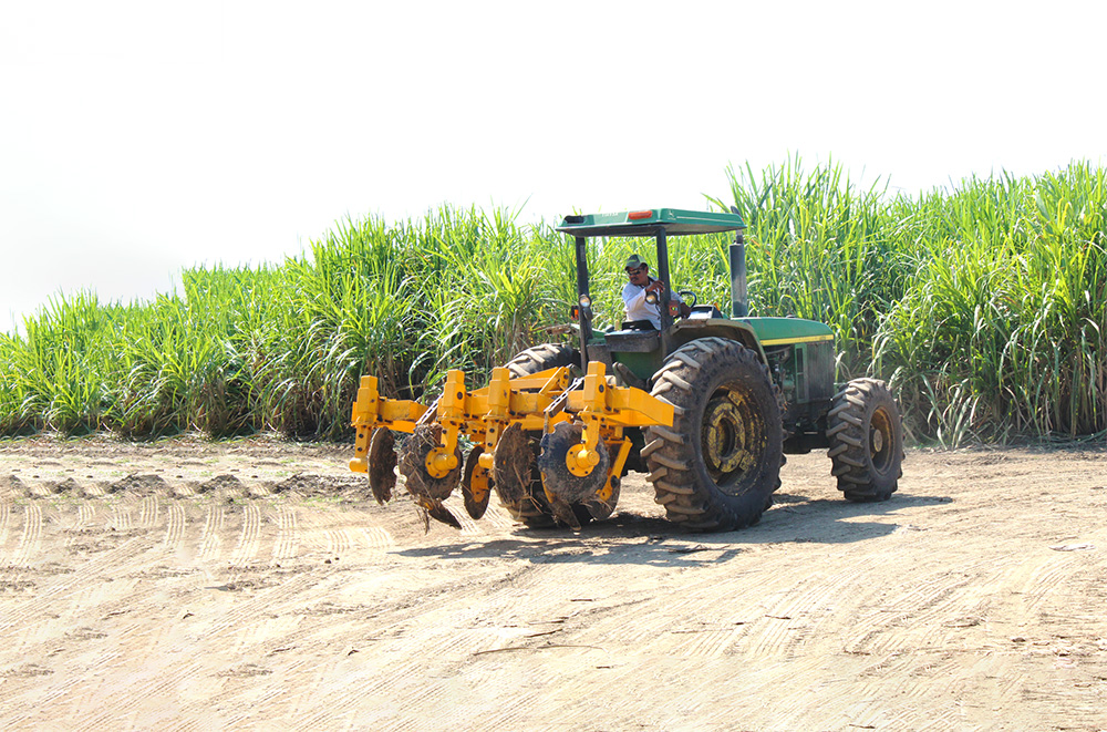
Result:
M473 518L484 514L493 487L509 508L535 502L531 468L537 458L549 512L579 528L573 506L597 517L614 507L631 451L624 431L672 423L672 404L617 385L599 361L589 362L588 373L576 380L568 367L517 378L497 368L488 385L473 391L465 388L465 373L453 370L431 408L385 399L375 377L362 377L353 406L356 443L350 470L368 473L373 494L385 503L397 462L391 433L412 434L399 461L407 491L431 516L459 526L442 505L456 486L462 486ZM472 445L464 465L463 439Z

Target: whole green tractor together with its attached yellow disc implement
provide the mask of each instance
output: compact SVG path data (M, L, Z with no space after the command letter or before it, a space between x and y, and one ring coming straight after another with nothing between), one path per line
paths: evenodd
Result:
M826 324L748 316L744 229L733 209L566 216L557 230L576 245L572 342L527 349L473 391L462 371L449 371L430 405L386 399L374 377L362 377L351 470L368 473L385 503L399 468L425 515L455 527L443 501L459 486L474 519L495 492L527 526L580 530L611 515L633 470L646 473L670 520L690 530L737 529L772 505L785 454L816 447L828 451L848 501L887 501L902 475L894 396L875 379L835 383ZM669 239L723 231L735 233L731 312L680 290L690 306L680 318ZM654 239L664 287L648 299L660 309L660 330L593 328L589 237ZM397 432L411 434L399 454Z

